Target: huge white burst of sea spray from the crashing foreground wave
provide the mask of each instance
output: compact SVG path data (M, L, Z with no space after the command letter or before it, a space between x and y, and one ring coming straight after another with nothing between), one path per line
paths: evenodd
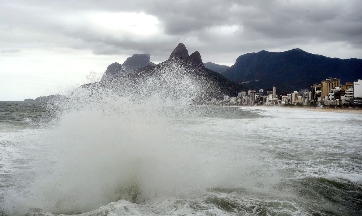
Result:
M56 117L38 136L41 149L28 173L33 182L8 201L24 212L73 214L118 200L186 198L217 186L219 171L212 169L226 164L198 157L177 133L199 97L199 81L177 63L159 74L136 85L96 83L50 101Z

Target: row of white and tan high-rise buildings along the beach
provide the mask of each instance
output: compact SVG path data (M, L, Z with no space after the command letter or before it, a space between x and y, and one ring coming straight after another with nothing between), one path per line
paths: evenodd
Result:
M315 104L323 105L362 105L362 80L346 82L341 85L340 79L328 78L311 86L310 90L294 91L290 94L282 91L277 94L277 87L273 91L249 90L241 91L237 96L225 95L223 99L212 98L208 104L230 104L230 105L287 105L287 104Z

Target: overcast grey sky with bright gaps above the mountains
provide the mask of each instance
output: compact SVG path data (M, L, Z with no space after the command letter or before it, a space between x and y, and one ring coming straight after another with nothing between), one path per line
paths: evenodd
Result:
M67 94L134 53L203 62L261 50L362 58L362 1L1 0L0 100Z

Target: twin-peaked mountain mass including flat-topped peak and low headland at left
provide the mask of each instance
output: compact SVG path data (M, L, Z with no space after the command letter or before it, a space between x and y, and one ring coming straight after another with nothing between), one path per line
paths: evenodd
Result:
M83 91L85 89L87 91ZM146 98L150 92L177 99L191 95L194 103L203 103L212 97L220 99L225 95L236 96L239 91L246 90L223 75L207 69L200 53L196 51L189 55L182 43L177 45L166 61L157 65L150 62L150 55L147 54L133 55L123 65L114 62L108 66L101 81L82 85L68 96L87 92L97 98L102 89L111 90L118 95L140 94ZM62 99L61 95L49 95L35 101L59 99Z

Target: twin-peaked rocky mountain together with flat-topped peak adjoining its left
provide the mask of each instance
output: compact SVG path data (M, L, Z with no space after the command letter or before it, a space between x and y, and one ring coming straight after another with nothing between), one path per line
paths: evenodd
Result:
M144 83L150 80L157 83L159 90L163 89L160 83L168 85L170 80L174 80L171 85L178 85L187 80L193 83L193 89L197 88L195 100L202 102L210 100L212 97L221 98L224 95L236 95L240 91L240 85L230 81L223 75L205 68L199 52L189 55L184 44L180 43L171 52L170 57L160 64L150 62L150 55L141 54L129 57L123 64L113 63L108 66L100 82L88 83L81 87L111 88L118 90L122 87L131 86L132 89L141 89ZM175 88L176 90L180 88ZM187 91L187 89L181 89ZM118 91L119 92L119 91ZM172 94L172 92L169 92Z

